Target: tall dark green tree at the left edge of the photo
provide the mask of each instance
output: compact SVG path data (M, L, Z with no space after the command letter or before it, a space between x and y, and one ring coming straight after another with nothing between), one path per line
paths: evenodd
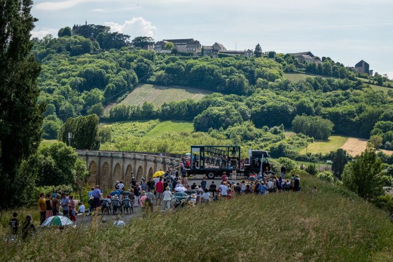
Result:
M21 162L35 153L42 135L42 113L37 103L36 79L40 64L30 54L30 31L38 21L30 14L32 0L0 1L0 206L20 204L28 179L19 172Z

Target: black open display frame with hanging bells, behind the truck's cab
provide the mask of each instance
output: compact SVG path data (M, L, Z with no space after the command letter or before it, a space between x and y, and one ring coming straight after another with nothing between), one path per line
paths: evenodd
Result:
M239 146L191 146L192 165L190 175L204 175L209 179L236 170L240 173Z

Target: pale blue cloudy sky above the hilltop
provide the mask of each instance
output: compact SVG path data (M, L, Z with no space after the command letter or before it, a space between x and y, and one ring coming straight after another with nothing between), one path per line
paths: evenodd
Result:
M306 52L345 66L365 60L393 78L393 0L35 0L33 37L74 24L137 36L194 38L227 50Z

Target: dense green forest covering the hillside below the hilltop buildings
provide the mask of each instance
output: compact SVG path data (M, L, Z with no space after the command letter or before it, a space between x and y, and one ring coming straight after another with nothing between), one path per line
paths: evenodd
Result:
M103 39L112 34L110 28L84 27L76 35L70 36L66 27L57 38L49 35L33 40L32 52L42 64L37 80L39 102L47 104L45 138L56 138L70 117L97 114L101 121L194 121L195 130L203 132L251 123L266 130L283 125L315 139L326 139L331 132L363 138L373 135L382 139L381 147L393 147L393 90L372 89L329 57L323 57L323 65L315 70L313 64L299 64L290 54L273 53L275 61L271 54L258 58L179 57L130 50L125 47L127 35L112 35L123 44L104 44ZM103 45L113 49L103 49ZM296 83L284 79L283 72L293 68L336 78L309 77ZM165 103L158 109L150 103L118 105L104 114L105 105L121 101L140 82L217 93L197 102ZM225 135L230 138L232 134Z

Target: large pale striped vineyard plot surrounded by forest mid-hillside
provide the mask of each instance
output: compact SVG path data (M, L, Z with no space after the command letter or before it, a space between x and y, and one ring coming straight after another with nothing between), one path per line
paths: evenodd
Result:
M197 88L183 88L177 86L160 86L143 84L137 86L119 105L143 105L144 101L160 107L165 102L180 101L185 99L200 100L205 95L211 94L207 90Z

